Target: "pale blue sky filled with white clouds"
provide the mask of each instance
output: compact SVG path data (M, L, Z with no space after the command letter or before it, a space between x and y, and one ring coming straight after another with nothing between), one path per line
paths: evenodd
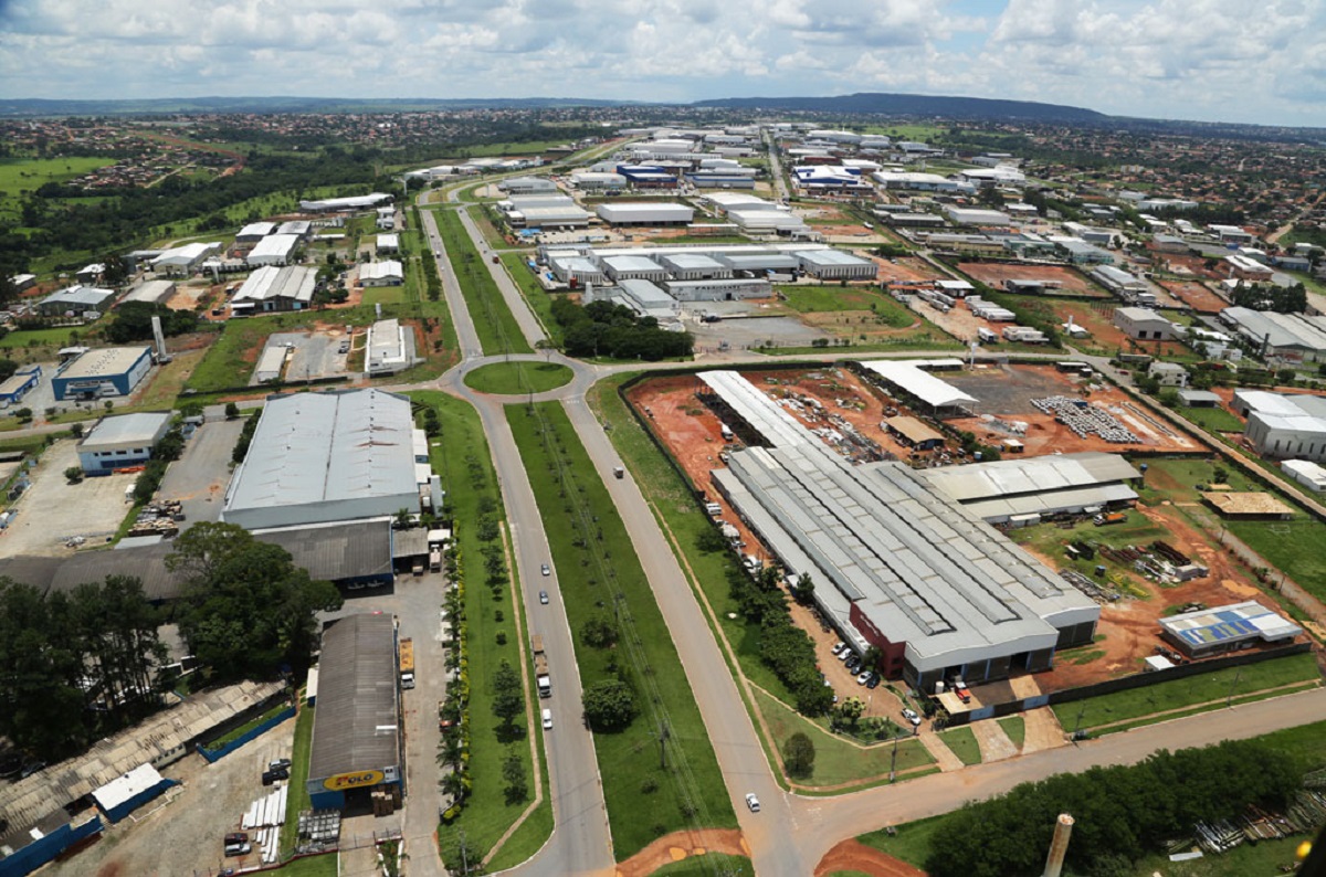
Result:
M1326 126L1326 0L0 0L0 97L900 91Z

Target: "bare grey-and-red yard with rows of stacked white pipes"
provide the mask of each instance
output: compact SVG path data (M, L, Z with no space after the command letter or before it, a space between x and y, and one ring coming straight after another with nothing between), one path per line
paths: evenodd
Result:
M1020 420L1028 424L1026 433L1020 440L1029 456L1061 450L1106 450L1127 453L1128 450L1172 450L1197 453L1205 450L1196 438L1180 433L1156 420L1132 403L1127 395L1114 387L1093 389L1089 401L1127 427L1142 438L1138 444L1114 444L1098 436L1079 438L1066 425L1055 423L1052 415L1045 415L1032 405L1033 399L1046 396L1081 396L1086 386L1081 378L1061 374L1052 366L1001 366L977 368L972 372L947 375L948 383L980 400L980 415L993 415L1001 420ZM993 428L980 416L959 417L949 421L956 429L968 429L977 438L994 444L1009 437L1009 432Z

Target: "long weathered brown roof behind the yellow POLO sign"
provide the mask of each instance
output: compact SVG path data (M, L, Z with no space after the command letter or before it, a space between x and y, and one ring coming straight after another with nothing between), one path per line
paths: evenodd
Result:
M322 632L309 780L399 767L396 639L390 615L351 615Z

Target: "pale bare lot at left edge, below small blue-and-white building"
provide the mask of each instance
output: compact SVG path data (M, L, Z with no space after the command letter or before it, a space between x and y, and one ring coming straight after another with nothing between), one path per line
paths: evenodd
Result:
M57 441L41 454L32 470L32 488L15 505L17 517L0 531L0 556L68 554L70 537L82 537L84 547L93 547L115 534L129 513L125 489L138 476L105 476L72 485L64 473L77 465L78 442L73 438Z

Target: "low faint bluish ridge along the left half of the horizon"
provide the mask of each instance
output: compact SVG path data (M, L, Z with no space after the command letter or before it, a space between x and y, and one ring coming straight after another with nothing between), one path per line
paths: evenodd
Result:
M164 115L174 113L420 113L427 110L536 109L561 106L621 106L625 101L590 98L298 98L203 97L141 101L52 101L0 98L0 117Z

